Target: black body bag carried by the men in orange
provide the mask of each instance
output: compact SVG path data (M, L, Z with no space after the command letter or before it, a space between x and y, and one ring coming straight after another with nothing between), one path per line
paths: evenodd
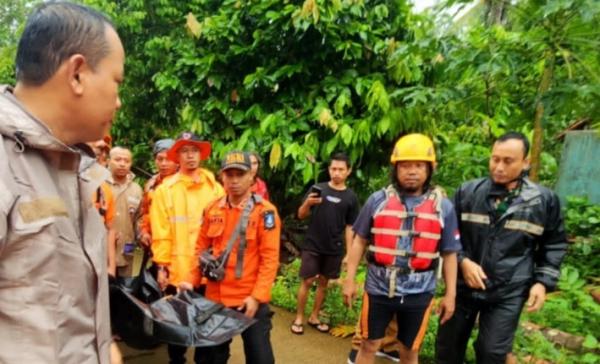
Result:
M192 291L162 297L159 285L144 267L140 275L113 280L110 311L113 333L135 349L153 349L161 343L214 346L241 334L256 320L207 300Z

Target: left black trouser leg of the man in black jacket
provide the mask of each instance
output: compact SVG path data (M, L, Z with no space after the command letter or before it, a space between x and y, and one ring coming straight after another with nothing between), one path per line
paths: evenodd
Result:
M462 364L467 343L475 324L479 303L457 296L456 309L450 320L438 327L435 358L438 364Z

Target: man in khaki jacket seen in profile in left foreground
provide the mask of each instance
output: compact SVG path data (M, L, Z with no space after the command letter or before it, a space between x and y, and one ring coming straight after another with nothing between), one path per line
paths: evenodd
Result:
M125 52L82 5L42 3L0 86L0 363L107 364L106 229L93 193L107 177L81 143L121 106Z

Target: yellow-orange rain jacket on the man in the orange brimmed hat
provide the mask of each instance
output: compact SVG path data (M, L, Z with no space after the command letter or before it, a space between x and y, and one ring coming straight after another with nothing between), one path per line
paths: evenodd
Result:
M195 177L175 173L154 191L150 205L153 260L168 266L169 283L200 284L197 274L196 241L202 212L225 191L212 172L198 168Z

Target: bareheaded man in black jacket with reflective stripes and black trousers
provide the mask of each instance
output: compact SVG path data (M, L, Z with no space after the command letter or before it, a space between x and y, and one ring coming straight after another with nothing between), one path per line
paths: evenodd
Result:
M463 251L454 316L440 325L438 363L463 363L479 314L477 363L504 363L523 305L544 304L558 282L567 241L560 203L552 191L526 178L529 142L517 132L492 149L490 177L464 183L454 206Z

